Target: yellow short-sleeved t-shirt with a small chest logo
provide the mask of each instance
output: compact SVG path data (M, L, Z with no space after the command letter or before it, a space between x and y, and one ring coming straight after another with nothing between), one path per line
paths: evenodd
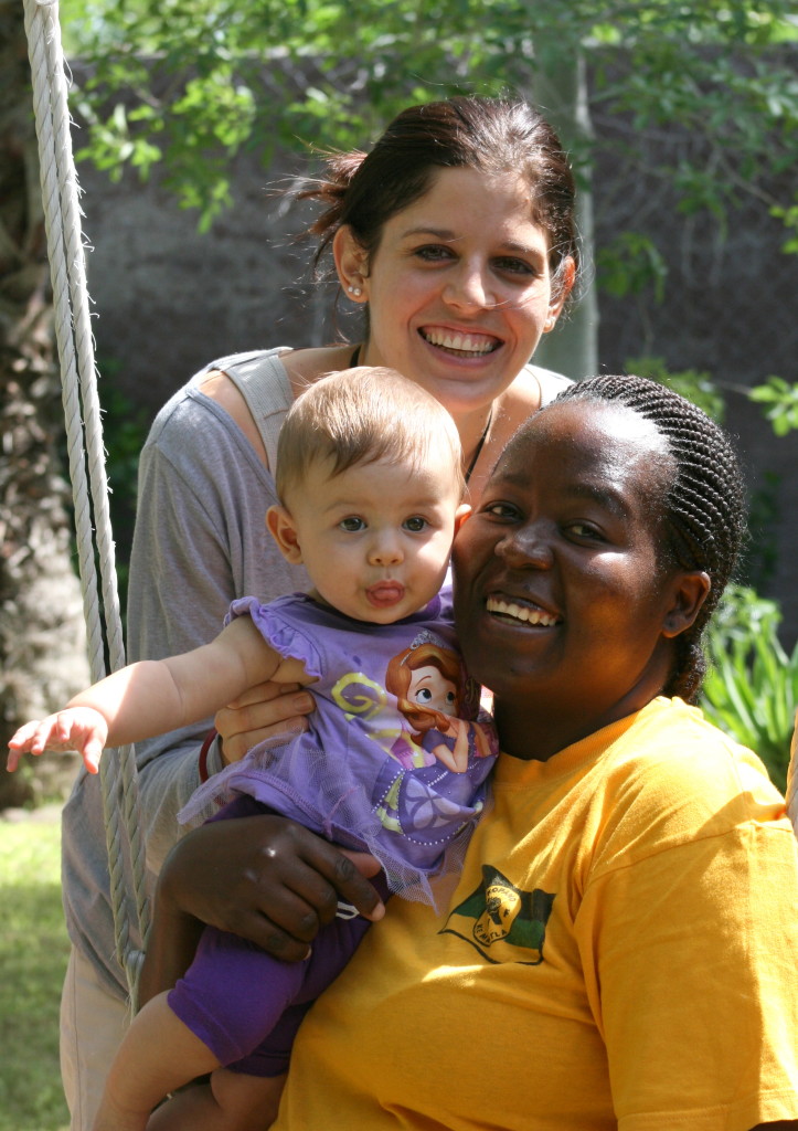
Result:
M758 759L657 699L493 792L448 909L394 898L314 1005L275 1131L797 1117L798 846Z

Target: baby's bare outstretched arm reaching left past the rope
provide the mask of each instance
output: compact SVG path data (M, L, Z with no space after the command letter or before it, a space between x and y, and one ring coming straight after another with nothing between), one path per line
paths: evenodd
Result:
M104 745L121 746L205 718L266 680L309 682L300 661L284 659L249 616L210 644L182 656L140 661L114 672L69 701L63 711L27 723L9 742L9 770L24 753L79 750L97 771Z

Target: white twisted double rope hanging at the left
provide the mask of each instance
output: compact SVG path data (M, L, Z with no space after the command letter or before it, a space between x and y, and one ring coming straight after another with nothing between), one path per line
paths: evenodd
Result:
M94 342L80 231L81 213L72 157L58 0L25 0L25 29L33 77L40 175L53 286L55 340L61 359L62 400L84 614L88 630L92 677L98 680L105 674L104 639L107 641L112 671L124 664L124 646L116 594L114 545L111 537ZM92 516L96 525L102 608L97 590ZM125 972L136 1008L138 972L144 956L131 941L125 860L132 873L136 927L145 942L149 931L149 909L145 888L144 844L138 821L136 762L130 746L118 750L115 756L106 754L103 758L101 783L116 955Z

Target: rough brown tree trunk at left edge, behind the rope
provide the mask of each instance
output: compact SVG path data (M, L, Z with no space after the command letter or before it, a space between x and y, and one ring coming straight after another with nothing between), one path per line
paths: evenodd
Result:
M20 0L0 0L0 751L89 682L72 569L52 305ZM1 756L0 756L1 759ZM76 757L0 774L0 809L62 794Z

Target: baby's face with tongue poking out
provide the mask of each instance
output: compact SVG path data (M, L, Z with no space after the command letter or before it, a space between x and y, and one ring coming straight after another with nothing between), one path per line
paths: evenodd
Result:
M468 513L445 448L420 467L378 460L331 476L329 464L311 465L286 501L316 598L375 624L399 621L432 599Z

